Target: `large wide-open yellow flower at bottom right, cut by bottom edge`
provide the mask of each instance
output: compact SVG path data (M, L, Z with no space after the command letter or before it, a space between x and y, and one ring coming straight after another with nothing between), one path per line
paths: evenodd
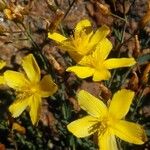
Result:
M117 150L115 136L134 144L143 144L147 140L142 126L123 120L129 111L134 92L126 89L116 92L108 108L84 90L77 97L81 108L89 114L67 126L78 138L96 133L100 150Z

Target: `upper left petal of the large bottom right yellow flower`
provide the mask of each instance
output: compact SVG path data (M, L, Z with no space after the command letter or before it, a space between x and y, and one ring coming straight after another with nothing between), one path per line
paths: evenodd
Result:
M106 105L98 98L94 97L90 93L81 90L77 94L79 105L88 114L96 118L102 118L107 113ZM99 120L100 121L100 120Z

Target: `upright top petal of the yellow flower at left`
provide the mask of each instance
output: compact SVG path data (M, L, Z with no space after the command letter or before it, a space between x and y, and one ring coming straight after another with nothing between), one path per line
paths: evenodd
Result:
M22 67L30 81L38 82L40 80L40 68L32 54L23 58Z

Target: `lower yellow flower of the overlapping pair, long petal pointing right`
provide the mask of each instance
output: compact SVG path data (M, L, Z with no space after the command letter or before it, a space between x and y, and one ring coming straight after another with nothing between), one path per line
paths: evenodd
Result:
M109 69L129 67L136 63L134 58L106 59L111 49L111 42L105 38L91 55L84 56L76 66L67 68L67 71L74 72L80 78L93 76L93 81L101 81L111 77Z

